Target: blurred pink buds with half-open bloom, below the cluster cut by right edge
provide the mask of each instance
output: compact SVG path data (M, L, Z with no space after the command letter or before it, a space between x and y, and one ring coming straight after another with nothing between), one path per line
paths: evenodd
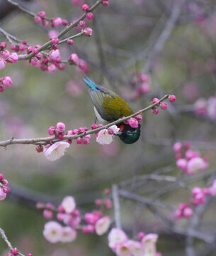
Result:
M176 166L181 169L186 175L196 174L199 170L204 170L208 167L208 159L200 156L200 152L193 151L191 144L186 142L176 142L174 144L176 152Z

